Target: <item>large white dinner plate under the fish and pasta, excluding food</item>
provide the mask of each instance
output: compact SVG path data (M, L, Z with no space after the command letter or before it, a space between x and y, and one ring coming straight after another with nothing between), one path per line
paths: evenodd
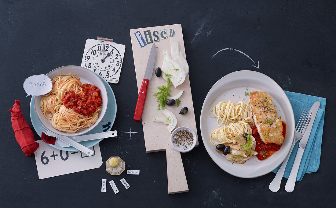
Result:
M248 90L247 90L248 88ZM287 131L284 143L279 151L265 160L258 160L256 156L244 164L226 161L225 155L218 153L210 143L210 133L217 129L217 118L210 117L210 111L221 100L231 100L235 103L244 98L248 102L250 96L245 92L264 91L271 96L277 107L278 116L286 122ZM240 178L255 178L263 176L277 168L286 158L294 138L294 114L291 103L282 88L270 77L255 71L236 71L218 80L208 92L201 112L201 134L204 146L213 161L227 173Z

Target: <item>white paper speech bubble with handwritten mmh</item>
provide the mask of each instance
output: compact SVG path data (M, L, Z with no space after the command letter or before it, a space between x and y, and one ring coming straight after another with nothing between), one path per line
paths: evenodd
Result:
M29 95L44 95L51 91L51 79L45 74L37 74L28 77L23 83L23 88Z

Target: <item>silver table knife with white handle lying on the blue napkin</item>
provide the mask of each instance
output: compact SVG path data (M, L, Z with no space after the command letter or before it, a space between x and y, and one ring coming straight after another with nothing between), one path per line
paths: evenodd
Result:
M295 156L294 164L293 164L291 173L290 173L290 175L288 177L288 180L287 180L287 183L286 183L286 186L285 186L285 190L287 192L294 191L294 186L295 186L295 182L296 182L297 172L298 172L299 167L300 167L302 155L303 155L304 149L305 149L305 147L307 145L307 142L308 142L308 139L309 139L309 136L310 136L310 132L311 132L311 129L313 127L314 120L316 118L316 114L317 114L317 112L318 112L318 110L320 108L320 104L321 103L319 101L316 101L312 105L312 107L310 108L310 110L309 110L309 112L311 113L310 121L309 121L309 124L307 126L306 131L304 132L304 134L302 136L302 139L299 142L299 148L297 149L297 153L296 153L296 156Z

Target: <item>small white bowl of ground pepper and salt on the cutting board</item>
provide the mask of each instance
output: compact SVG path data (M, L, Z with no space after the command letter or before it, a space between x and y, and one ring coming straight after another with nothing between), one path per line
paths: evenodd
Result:
M189 152L196 146L195 132L186 126L176 128L170 136L171 146L179 152Z

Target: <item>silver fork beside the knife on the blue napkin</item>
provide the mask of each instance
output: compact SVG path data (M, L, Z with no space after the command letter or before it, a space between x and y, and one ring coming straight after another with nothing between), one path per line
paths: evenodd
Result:
M297 125L295 127L295 133L294 133L294 141L293 141L291 150L289 151L285 161L282 163L280 169L278 170L277 175L275 176L273 181L269 184L268 188L272 192L277 192L280 189L281 180L282 180L282 177L284 176L286 165L287 165L288 159L289 159L289 157L292 153L292 150L295 146L295 143L297 141L300 141L300 139L302 139L302 136L303 136L304 132L306 131L308 123L310 121L311 112L310 112L309 116L308 116L308 114L309 114L309 112L307 112L307 109L304 109L302 114L301 114L301 117L300 117L299 121L297 122Z

